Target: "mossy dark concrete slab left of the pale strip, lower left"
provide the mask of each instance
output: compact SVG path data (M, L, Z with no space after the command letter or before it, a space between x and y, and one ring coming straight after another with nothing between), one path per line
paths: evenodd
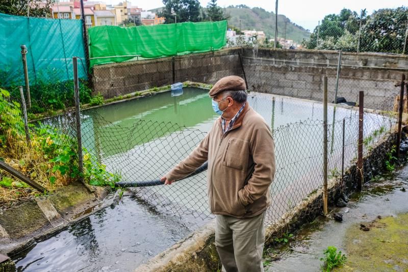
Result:
M18 239L43 227L51 226L34 201L3 211L0 215L0 225L7 231L11 239Z

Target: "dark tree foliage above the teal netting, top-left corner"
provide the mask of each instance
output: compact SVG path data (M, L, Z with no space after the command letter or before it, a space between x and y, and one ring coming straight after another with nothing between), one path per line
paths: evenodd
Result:
M50 17L54 0L30 2L30 17ZM0 13L27 16L27 0L0 0Z

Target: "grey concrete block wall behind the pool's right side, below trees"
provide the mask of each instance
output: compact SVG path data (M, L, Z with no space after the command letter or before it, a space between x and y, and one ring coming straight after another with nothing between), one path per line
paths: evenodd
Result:
M327 75L328 99L334 100L336 52L244 49L242 60L251 90L321 101ZM394 84L407 69L408 57L344 53L337 96L357 102L362 90L365 107L391 110L399 94Z

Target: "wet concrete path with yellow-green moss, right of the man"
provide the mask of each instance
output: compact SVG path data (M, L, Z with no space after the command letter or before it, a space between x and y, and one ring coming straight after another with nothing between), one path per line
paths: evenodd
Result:
M285 249L269 249L265 271L319 271L329 245L348 257L336 270L408 271L408 166L370 182L335 212L343 214L343 222L318 218ZM361 230L360 224L370 230Z

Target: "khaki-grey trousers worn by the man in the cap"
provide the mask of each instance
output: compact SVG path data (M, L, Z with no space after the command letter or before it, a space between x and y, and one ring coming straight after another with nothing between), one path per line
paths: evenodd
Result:
M215 245L222 262L222 271L263 272L265 212L245 219L227 215L215 217Z

